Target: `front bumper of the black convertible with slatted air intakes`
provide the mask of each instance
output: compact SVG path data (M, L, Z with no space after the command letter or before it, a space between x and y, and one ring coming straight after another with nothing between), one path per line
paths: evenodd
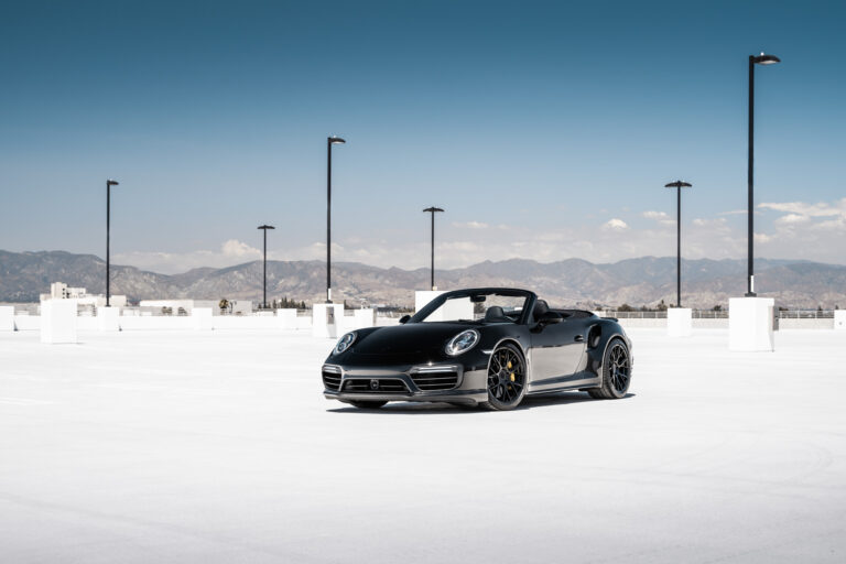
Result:
M460 364L367 367L325 364L327 400L431 401L475 405L488 400L487 370L465 370Z

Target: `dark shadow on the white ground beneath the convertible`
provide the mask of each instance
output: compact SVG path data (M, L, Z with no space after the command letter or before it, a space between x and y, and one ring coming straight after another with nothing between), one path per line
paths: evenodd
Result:
M622 400L634 398L637 394L627 393ZM571 403L583 402L604 402L608 400L595 400L587 392L555 392L544 395L532 395L525 398L522 403L513 411L524 411L541 408L551 408L556 405L567 405ZM352 405L343 404L340 408L326 410L329 413L357 413L370 415L457 415L457 414L478 414L494 413L478 406L453 405L444 402L390 402L378 409L361 409Z

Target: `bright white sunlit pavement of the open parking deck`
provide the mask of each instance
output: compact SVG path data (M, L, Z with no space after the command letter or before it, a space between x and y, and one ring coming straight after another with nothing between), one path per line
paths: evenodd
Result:
M846 561L846 332L630 335L629 398L489 413L328 402L302 333L0 334L0 561Z

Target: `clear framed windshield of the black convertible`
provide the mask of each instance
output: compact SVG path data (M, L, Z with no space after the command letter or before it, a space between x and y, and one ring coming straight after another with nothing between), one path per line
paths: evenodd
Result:
M440 299L435 301L437 300ZM434 310L432 310L434 302L430 303L412 319L415 323L517 323L528 300L527 295L508 295L497 292L448 296Z

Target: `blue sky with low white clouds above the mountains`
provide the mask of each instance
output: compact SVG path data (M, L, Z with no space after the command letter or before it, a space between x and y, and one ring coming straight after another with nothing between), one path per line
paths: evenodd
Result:
M325 253L846 263L843 2L21 2L0 9L0 248L165 272ZM668 215L663 215L668 214Z

